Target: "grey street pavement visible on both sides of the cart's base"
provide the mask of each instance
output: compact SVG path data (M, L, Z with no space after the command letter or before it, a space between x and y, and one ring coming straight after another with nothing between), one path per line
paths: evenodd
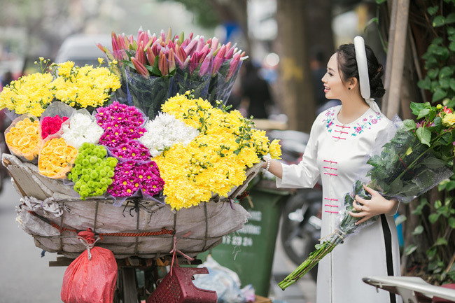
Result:
M20 202L10 181L0 193L0 303L60 303L60 290L66 267L49 267L55 253L45 253L15 221ZM279 238L277 238L279 239ZM314 303L315 283L304 276L285 291L278 283L295 269L276 241L269 297L275 303Z

